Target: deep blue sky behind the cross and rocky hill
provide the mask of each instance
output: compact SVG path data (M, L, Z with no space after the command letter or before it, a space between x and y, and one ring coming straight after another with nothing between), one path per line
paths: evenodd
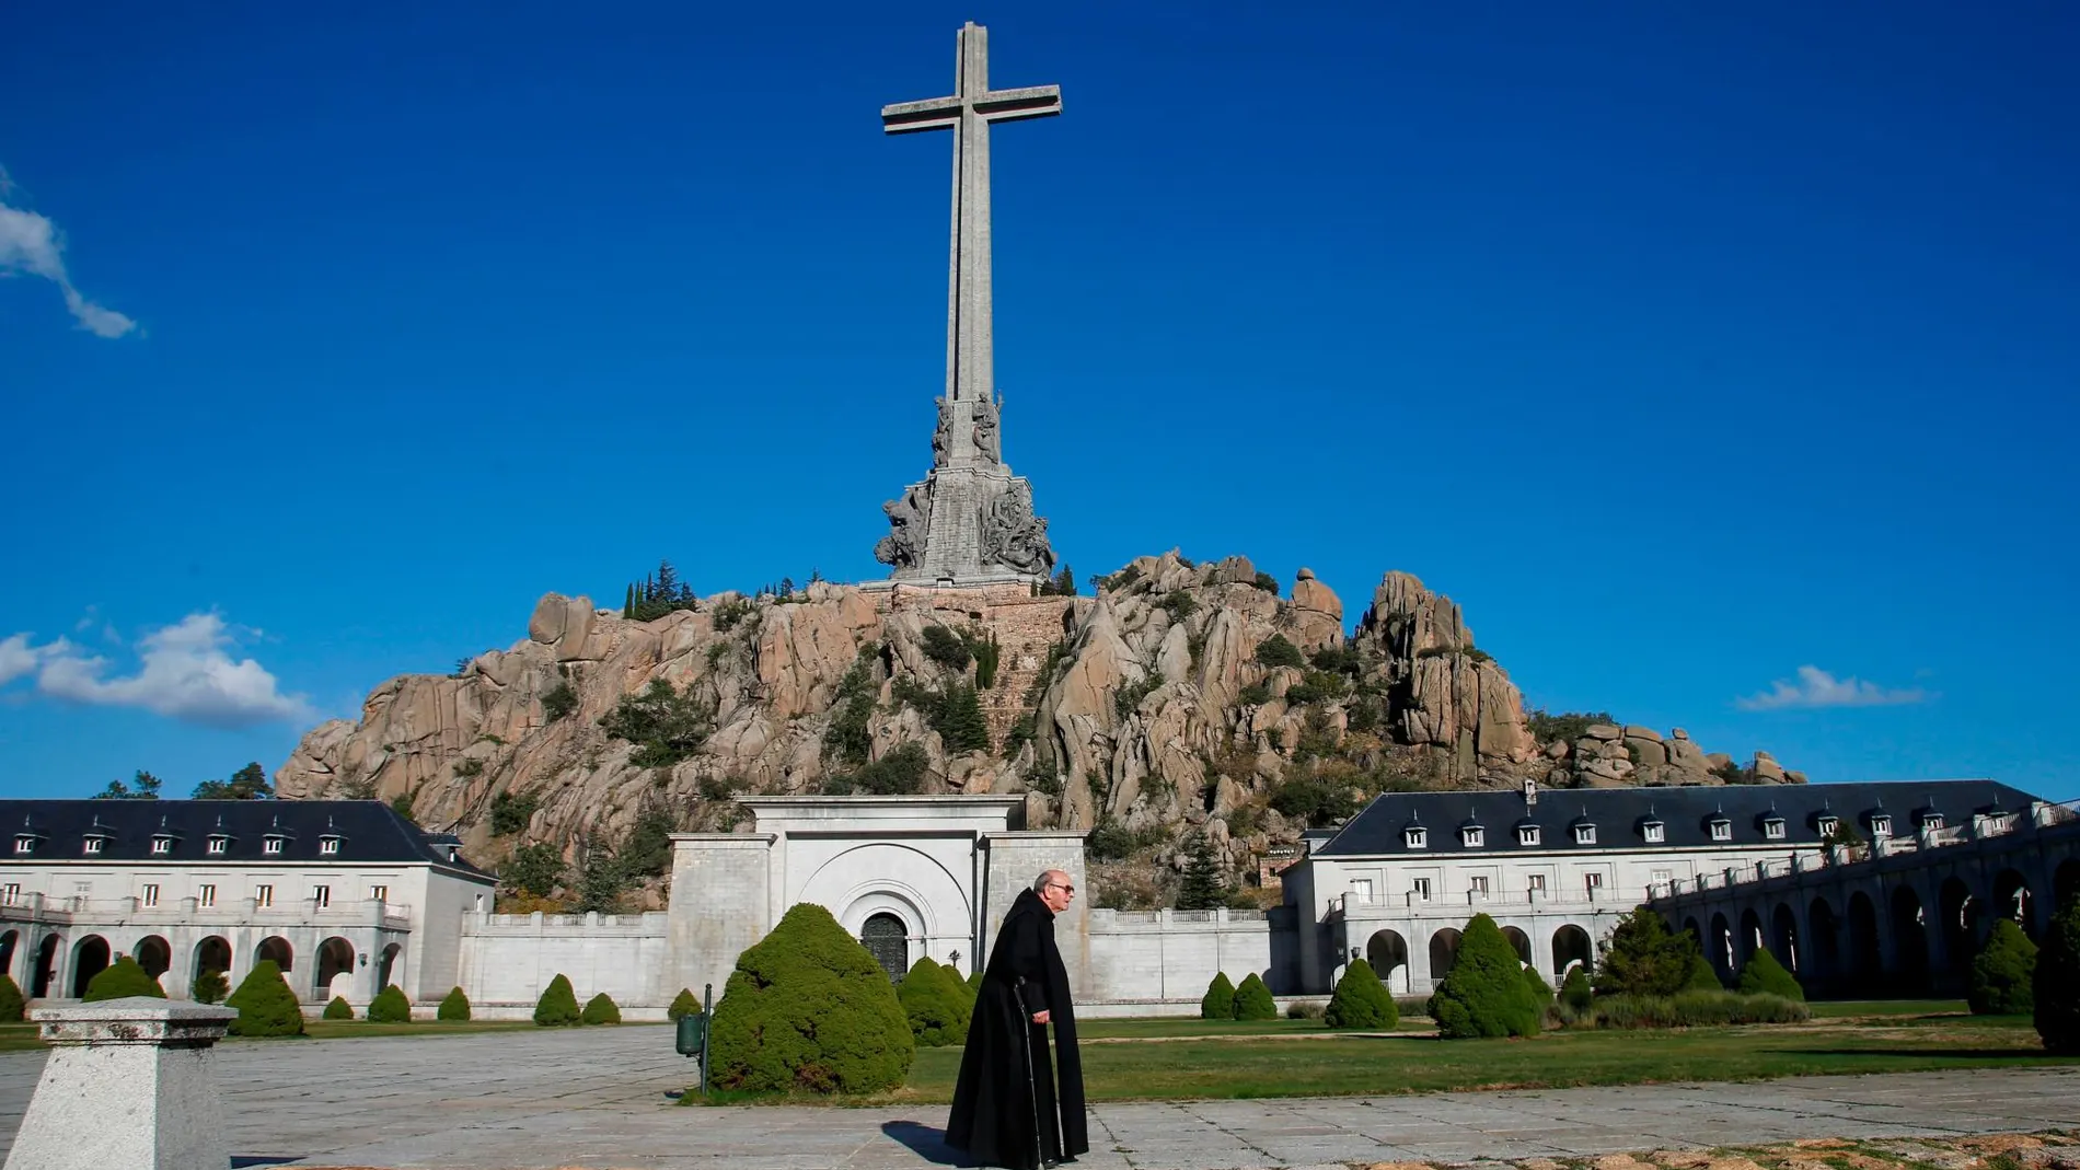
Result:
M1063 87L996 382L1080 574L1406 569L1533 704L2080 796L2080 8L304 8L4 17L4 794L275 769L657 557L880 576L948 141L878 108L976 19Z

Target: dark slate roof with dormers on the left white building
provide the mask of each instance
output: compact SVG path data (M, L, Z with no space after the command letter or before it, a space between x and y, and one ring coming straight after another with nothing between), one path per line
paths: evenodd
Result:
M21 835L35 837L33 854L15 852ZM171 837L164 854L154 837ZM208 852L212 835L225 852ZM87 854L87 837L102 850ZM268 840L281 852L266 852ZM337 840L337 852L320 852ZM327 865L433 865L464 877L489 879L462 858L451 833L428 833L381 800L0 800L0 865L6 862L327 862Z

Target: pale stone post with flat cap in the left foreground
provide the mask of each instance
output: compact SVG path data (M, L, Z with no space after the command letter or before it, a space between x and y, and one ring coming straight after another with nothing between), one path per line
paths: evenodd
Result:
M35 1008L50 1058L6 1170L225 1170L210 1045L233 1008L148 995Z

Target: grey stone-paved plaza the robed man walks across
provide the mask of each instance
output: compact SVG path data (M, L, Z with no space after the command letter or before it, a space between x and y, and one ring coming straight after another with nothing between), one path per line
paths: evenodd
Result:
M237 1166L894 1170L957 1164L944 1106L678 1108L661 1027L225 1043ZM0 1155L37 1052L0 1054ZM1421 1097L1102 1103L1088 1170L1471 1162L1803 1137L1955 1137L2080 1118L2080 1068Z

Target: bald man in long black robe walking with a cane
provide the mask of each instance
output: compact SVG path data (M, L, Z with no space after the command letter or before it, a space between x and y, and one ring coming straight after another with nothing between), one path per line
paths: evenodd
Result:
M1069 1004L1069 970L1055 948L1055 914L1067 910L1071 898L1075 885L1059 869L1021 889L982 970L946 1118L946 1145L978 1164L1036 1170L1040 1158L1073 1162L1090 1151L1075 1006ZM1059 1079L1048 1060L1048 1025L1055 1025L1061 1056Z

